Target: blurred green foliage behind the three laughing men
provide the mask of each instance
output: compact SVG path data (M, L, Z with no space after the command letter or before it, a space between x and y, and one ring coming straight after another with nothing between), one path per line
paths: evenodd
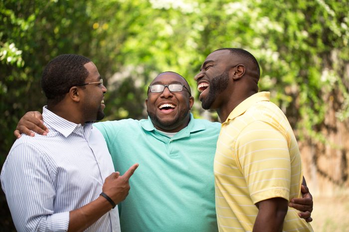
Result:
M204 58L240 47L300 139L326 141L330 110L348 121L348 0L1 0L0 22L0 166L19 118L45 105L43 67L63 53L97 65L109 120L146 117L147 86L163 71L183 75L197 97Z

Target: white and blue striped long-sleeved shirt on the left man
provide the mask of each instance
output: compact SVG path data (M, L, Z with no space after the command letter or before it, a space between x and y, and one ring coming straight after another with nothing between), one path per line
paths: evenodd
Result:
M75 124L43 108L49 133L17 139L1 170L2 190L17 231L67 231L69 211L99 197L114 166L92 123ZM117 207L88 228L120 232Z

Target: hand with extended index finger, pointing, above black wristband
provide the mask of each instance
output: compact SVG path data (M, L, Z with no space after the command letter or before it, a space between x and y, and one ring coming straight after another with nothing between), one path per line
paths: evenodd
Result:
M138 166L138 163L132 165L130 169L127 170L122 176L120 176L119 172L113 172L105 179L102 191L107 194L115 204L119 204L126 199L130 190L130 177L133 175Z

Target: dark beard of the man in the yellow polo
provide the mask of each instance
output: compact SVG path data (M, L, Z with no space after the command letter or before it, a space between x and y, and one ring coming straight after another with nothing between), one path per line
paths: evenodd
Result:
M205 110L209 110L216 100L217 95L223 92L228 87L229 74L228 71L224 71L221 75L215 76L209 85L209 92L207 97L202 100L201 107Z

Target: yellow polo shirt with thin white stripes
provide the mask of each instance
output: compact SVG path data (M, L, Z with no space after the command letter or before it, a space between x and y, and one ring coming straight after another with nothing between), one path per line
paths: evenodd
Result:
M219 231L252 231L257 202L299 198L303 170L298 144L283 112L260 92L222 123L214 158ZM289 208L283 231L313 231Z

